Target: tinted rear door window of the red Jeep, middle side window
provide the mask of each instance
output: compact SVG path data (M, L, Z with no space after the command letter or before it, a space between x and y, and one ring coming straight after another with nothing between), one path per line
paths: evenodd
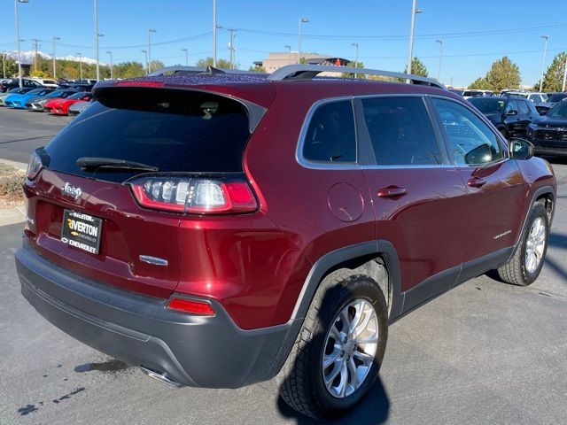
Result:
M377 97L362 100L377 165L441 163L431 120L419 97Z

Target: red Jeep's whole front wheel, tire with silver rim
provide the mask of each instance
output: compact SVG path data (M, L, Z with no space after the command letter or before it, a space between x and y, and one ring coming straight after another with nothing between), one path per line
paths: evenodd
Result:
M514 256L498 269L502 281L513 285L531 285L540 275L548 251L549 217L544 205L536 202L528 217L524 234Z

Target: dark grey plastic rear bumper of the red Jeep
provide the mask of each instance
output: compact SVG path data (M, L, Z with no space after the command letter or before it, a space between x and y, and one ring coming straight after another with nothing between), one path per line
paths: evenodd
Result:
M221 305L197 316L167 310L167 300L89 281L24 246L16 252L21 291L45 319L84 344L175 383L237 388L274 377L300 323L237 328Z

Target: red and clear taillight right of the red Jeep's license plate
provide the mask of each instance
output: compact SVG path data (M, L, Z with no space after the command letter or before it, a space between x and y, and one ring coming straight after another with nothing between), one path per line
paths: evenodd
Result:
M174 213L252 213L258 202L242 178L148 176L130 182L138 203Z

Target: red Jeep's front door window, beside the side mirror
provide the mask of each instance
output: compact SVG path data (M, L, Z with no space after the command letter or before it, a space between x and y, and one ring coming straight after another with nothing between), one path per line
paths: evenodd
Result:
M493 131L467 108L443 99L433 99L443 121L457 165L485 164L504 154Z

